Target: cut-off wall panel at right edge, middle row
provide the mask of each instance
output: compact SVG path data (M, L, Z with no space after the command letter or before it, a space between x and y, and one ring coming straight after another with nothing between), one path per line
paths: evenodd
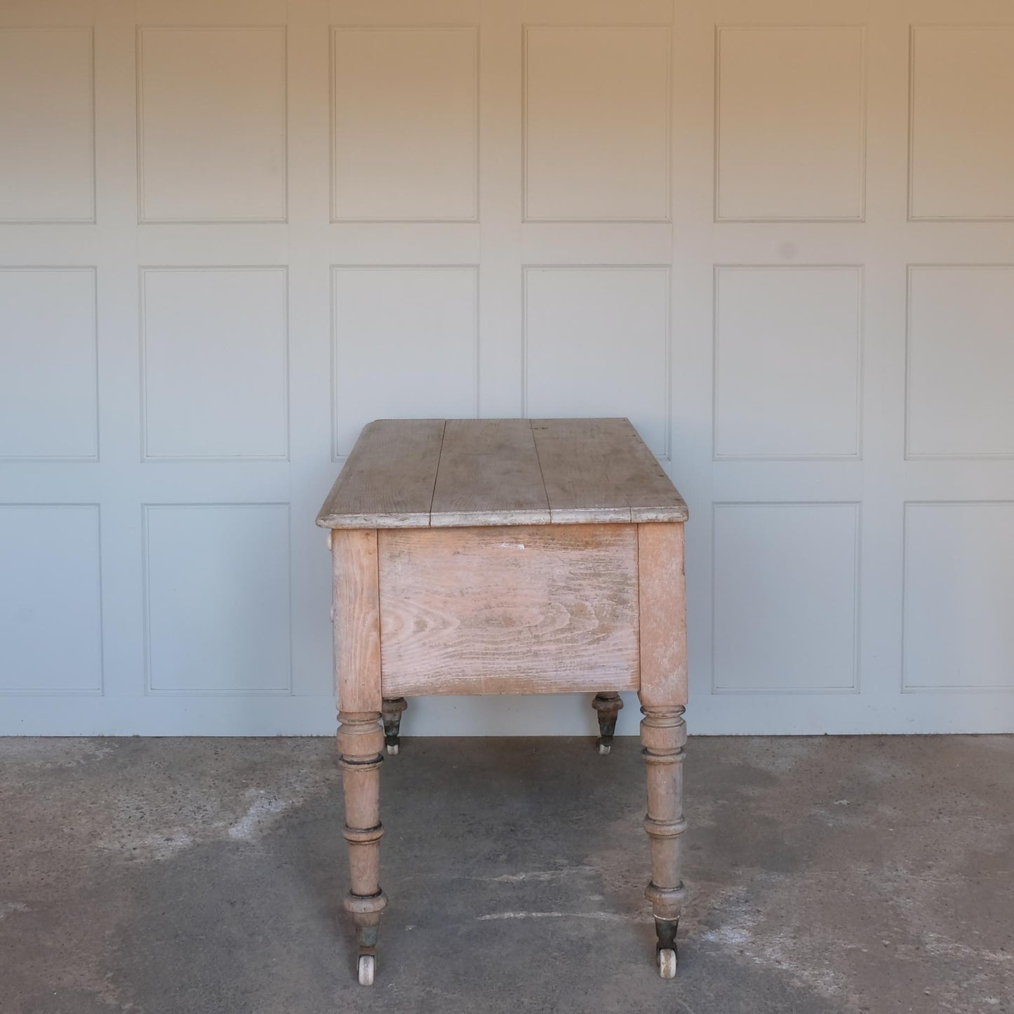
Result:
M910 457L1014 456L1014 267L909 272Z

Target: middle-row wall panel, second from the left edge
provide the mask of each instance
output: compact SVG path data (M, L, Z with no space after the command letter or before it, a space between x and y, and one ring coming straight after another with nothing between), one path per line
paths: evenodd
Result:
M288 453L284 268L146 268L145 455Z

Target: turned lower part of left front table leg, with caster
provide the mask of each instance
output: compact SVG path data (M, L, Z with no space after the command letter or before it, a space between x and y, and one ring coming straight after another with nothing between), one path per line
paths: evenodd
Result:
M340 712L338 730L345 787L345 840L349 843L352 889L345 908L352 913L359 944L358 971L373 985L377 930L387 898L380 889L380 764L383 732L377 712Z

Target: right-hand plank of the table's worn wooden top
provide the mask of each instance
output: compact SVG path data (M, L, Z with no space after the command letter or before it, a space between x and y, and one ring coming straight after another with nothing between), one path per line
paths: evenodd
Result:
M552 523L686 520L686 504L630 420L530 423Z

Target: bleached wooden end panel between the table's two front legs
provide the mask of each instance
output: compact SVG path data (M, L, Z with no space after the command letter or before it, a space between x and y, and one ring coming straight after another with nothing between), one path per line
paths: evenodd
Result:
M633 525L379 532L384 697L638 686Z

